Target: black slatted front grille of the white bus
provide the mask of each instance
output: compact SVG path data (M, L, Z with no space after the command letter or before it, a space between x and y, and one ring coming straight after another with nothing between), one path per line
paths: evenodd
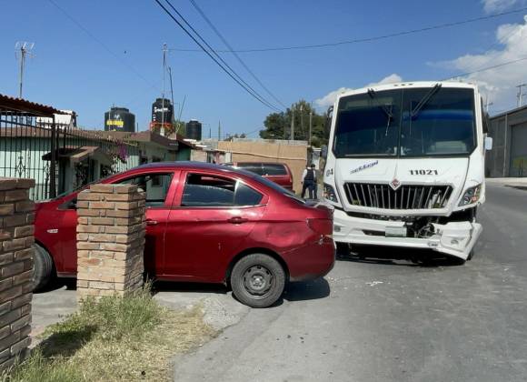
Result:
M443 208L452 196L452 186L400 186L373 183L346 183L348 202L353 206L383 209Z

